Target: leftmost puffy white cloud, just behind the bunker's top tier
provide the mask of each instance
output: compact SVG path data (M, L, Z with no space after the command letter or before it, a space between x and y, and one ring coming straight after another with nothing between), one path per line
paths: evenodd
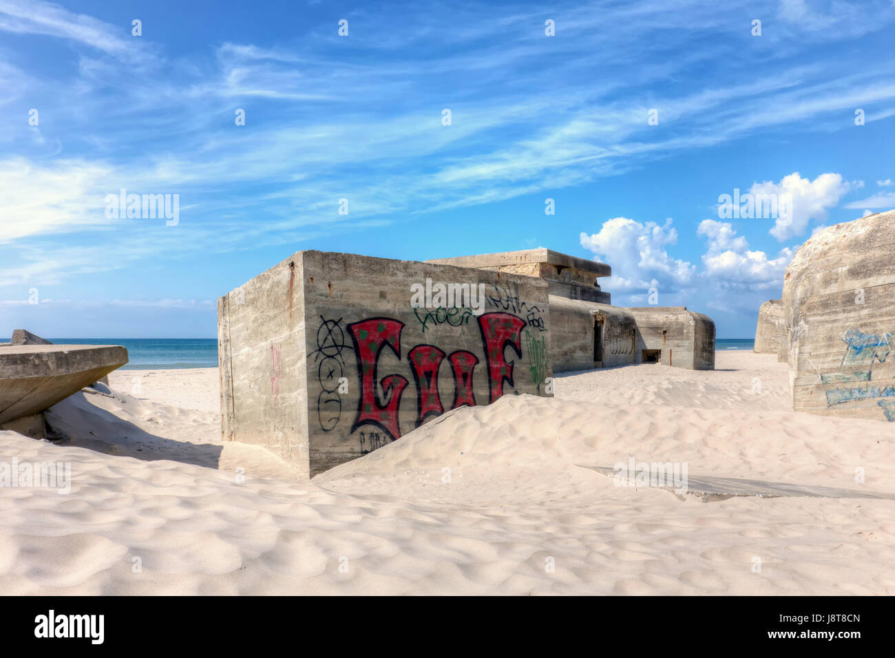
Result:
M581 245L596 254L596 260L612 266L612 277L603 279L612 290L658 287L668 292L688 285L696 269L666 251L666 247L678 242L678 231L671 223L671 218L660 226L617 217L603 222L599 233L582 233Z

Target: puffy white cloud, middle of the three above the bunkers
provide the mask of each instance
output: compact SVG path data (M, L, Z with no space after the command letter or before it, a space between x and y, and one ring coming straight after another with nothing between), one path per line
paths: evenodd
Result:
M792 260L790 249L769 259L765 252L750 250L746 237L737 236L732 225L714 219L703 219L696 233L707 238L703 276L721 288L762 290L783 285L784 271Z

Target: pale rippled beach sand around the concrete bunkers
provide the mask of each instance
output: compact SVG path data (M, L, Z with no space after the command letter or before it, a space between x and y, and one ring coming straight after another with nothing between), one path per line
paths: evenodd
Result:
M721 352L716 365L562 376L555 399L445 414L311 483L264 449L218 442L214 369L118 372L114 397L54 407L69 442L0 432L0 462L71 462L73 480L69 495L0 489L0 591L895 594L895 501L702 503L575 466L630 456L895 491L895 426L788 411L773 356Z

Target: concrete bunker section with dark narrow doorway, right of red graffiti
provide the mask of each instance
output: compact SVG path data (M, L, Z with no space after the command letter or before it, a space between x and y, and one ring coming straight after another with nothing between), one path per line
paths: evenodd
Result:
M635 320L623 308L550 295L550 321L555 371L635 363ZM601 332L599 348L594 346L594 331Z

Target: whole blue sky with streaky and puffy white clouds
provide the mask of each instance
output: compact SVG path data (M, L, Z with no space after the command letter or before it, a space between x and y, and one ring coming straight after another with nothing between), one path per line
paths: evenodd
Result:
M545 246L752 338L817 227L895 208L893 25L892 0L0 0L0 336L214 338L217 297L302 249ZM178 223L107 217L121 188ZM721 218L735 189L789 220Z

